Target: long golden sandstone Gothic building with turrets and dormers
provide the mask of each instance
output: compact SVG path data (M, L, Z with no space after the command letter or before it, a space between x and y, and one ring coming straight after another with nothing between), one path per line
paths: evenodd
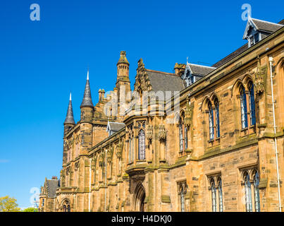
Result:
M69 102L55 206L40 209L282 210L283 27L249 18L247 44L210 67L187 62L166 73L140 59L132 95L121 52L116 87L99 90L96 105L88 75L77 123Z

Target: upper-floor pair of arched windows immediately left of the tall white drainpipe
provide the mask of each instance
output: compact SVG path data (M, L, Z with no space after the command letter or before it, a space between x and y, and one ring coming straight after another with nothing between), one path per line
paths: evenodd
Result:
M240 114L242 121L242 129L248 127L247 114L249 114L250 126L254 126L256 124L254 84L252 83L252 81L249 81L247 87L248 92L246 92L244 85L240 85ZM249 102L249 107L247 107L247 100Z

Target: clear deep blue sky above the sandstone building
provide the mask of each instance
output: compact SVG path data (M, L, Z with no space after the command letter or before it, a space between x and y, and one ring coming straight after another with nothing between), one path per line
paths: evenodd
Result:
M30 20L33 3L40 21ZM31 206L30 189L59 177L69 93L78 121L88 66L97 102L115 85L121 50L131 85L140 57L168 72L186 57L214 64L245 44L245 3L253 18L283 19L283 1L1 1L0 196Z

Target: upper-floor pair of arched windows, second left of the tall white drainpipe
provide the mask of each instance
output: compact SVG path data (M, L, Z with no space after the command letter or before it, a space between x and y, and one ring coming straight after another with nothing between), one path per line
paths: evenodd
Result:
M219 113L219 101L214 99L214 106L211 101L208 101L208 115L209 115L209 140L214 140L220 137L220 113Z

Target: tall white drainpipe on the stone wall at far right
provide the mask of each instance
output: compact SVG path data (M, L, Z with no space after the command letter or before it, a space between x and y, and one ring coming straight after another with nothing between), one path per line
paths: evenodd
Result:
M276 157L276 172L277 172L277 186L278 186L278 205L279 212L281 212L281 199L280 199L280 177L279 177L279 169L278 169L278 150L277 150L277 139L276 139L276 122L275 122L275 109L274 109L274 95L273 95L273 76L272 76L272 64L273 57L269 57L268 59L270 65L270 81L271 81L271 96L272 96L272 109L273 109L273 131L274 131L274 145L275 145L275 157Z

